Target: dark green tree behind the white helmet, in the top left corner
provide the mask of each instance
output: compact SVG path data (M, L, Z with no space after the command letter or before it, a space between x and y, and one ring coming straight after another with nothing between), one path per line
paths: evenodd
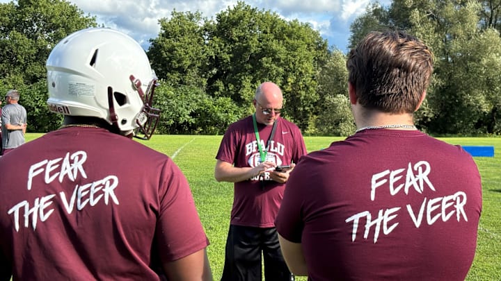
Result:
M0 76L29 85L46 76L52 46L81 28L96 26L77 6L62 0L0 3Z

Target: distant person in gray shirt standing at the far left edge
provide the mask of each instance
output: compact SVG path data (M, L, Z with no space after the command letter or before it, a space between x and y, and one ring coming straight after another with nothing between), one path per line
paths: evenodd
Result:
M2 155L24 144L27 117L26 109L17 103L19 101L17 90L8 91L5 101L7 105L1 110Z

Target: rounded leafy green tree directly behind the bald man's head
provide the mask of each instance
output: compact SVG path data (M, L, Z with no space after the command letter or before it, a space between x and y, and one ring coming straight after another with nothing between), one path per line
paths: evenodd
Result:
M308 127L319 99L315 74L328 56L317 31L241 1L216 15L207 31L214 53L207 69L209 94L232 99L248 114L255 88L269 80L283 90L284 116Z

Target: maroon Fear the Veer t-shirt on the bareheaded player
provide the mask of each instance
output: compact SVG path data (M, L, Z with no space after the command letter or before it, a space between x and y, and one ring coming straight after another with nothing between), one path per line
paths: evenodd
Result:
M481 210L460 146L364 130L301 158L276 228L302 244L310 280L464 280Z

